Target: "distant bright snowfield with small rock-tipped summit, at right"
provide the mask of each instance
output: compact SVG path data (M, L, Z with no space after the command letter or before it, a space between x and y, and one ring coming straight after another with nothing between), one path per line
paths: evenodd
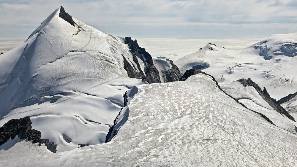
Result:
M269 48L269 52L284 50L284 48L295 52L293 46L297 46L295 45L296 34L271 35L265 39L265 45ZM266 60L260 56L259 49L254 47L263 45L260 43L243 50L226 50L208 44L201 50L174 61L174 64L182 73L187 69L195 68L211 74L219 83L251 78L261 88L265 87L276 100L295 93L297 91L297 56L288 56L286 51L282 51ZM292 47L287 47L288 44Z

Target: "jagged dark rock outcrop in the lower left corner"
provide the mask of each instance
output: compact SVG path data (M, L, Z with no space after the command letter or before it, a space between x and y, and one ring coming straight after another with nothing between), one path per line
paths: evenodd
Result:
M40 131L32 129L30 117L23 117L18 120L12 119L0 128L0 145L4 144L8 139L14 139L18 136L20 139L28 139L32 143L45 144L51 152L57 152L57 145L49 142L49 139L41 139Z

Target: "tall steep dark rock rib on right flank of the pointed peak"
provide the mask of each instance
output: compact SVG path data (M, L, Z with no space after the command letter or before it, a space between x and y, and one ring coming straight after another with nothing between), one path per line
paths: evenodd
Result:
M132 40L131 37L125 38L125 44L128 44L130 50L135 54L144 64L144 73L146 74L146 81L149 83L160 83L159 72L154 66L153 58L144 48L139 47L136 40ZM134 59L133 59L134 60ZM138 61L135 61L138 62ZM141 71L140 67L138 68Z

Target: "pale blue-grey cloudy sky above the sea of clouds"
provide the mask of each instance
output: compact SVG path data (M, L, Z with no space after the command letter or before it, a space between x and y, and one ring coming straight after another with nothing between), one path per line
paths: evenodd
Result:
M261 39L297 32L295 0L0 0L0 39L25 39L59 6L124 37Z

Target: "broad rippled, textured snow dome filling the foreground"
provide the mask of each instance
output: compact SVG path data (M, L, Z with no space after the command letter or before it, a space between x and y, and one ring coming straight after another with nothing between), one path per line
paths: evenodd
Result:
M1 164L292 166L297 163L295 134L238 104L207 75L137 87L138 93L128 105L129 118L112 141L59 154L29 142L14 146L7 142L4 146L11 148L0 150ZM23 160L28 158L30 161Z

